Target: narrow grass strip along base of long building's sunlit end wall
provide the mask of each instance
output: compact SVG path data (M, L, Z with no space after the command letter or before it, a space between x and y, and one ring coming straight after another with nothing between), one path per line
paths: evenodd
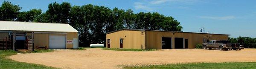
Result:
M114 48L103 48L105 50L115 50L115 51L154 51L156 49L114 49Z

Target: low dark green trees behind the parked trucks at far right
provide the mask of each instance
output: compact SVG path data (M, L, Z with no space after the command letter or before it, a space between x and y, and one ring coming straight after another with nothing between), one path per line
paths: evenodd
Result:
M240 43L245 48L256 48L256 38L251 37L229 37L228 40L231 43Z

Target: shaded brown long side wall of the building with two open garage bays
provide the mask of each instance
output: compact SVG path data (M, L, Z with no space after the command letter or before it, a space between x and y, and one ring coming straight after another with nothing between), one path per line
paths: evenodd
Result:
M211 35L200 33L182 33L182 32L161 32L146 31L146 49L162 49L162 37L172 37L172 49L175 48L175 37L182 37L183 45L185 39L188 39L188 48L195 48L196 44L203 43L204 39L208 40L228 40L228 35Z

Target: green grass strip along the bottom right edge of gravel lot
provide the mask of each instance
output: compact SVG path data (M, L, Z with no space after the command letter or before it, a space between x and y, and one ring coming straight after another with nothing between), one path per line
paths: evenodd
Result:
M180 63L148 66L124 66L124 69L256 69L256 62Z

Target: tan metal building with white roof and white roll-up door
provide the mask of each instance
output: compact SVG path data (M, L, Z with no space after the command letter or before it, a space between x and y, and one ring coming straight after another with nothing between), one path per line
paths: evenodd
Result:
M78 31L69 24L0 21L0 38L7 39L13 49L78 49Z

